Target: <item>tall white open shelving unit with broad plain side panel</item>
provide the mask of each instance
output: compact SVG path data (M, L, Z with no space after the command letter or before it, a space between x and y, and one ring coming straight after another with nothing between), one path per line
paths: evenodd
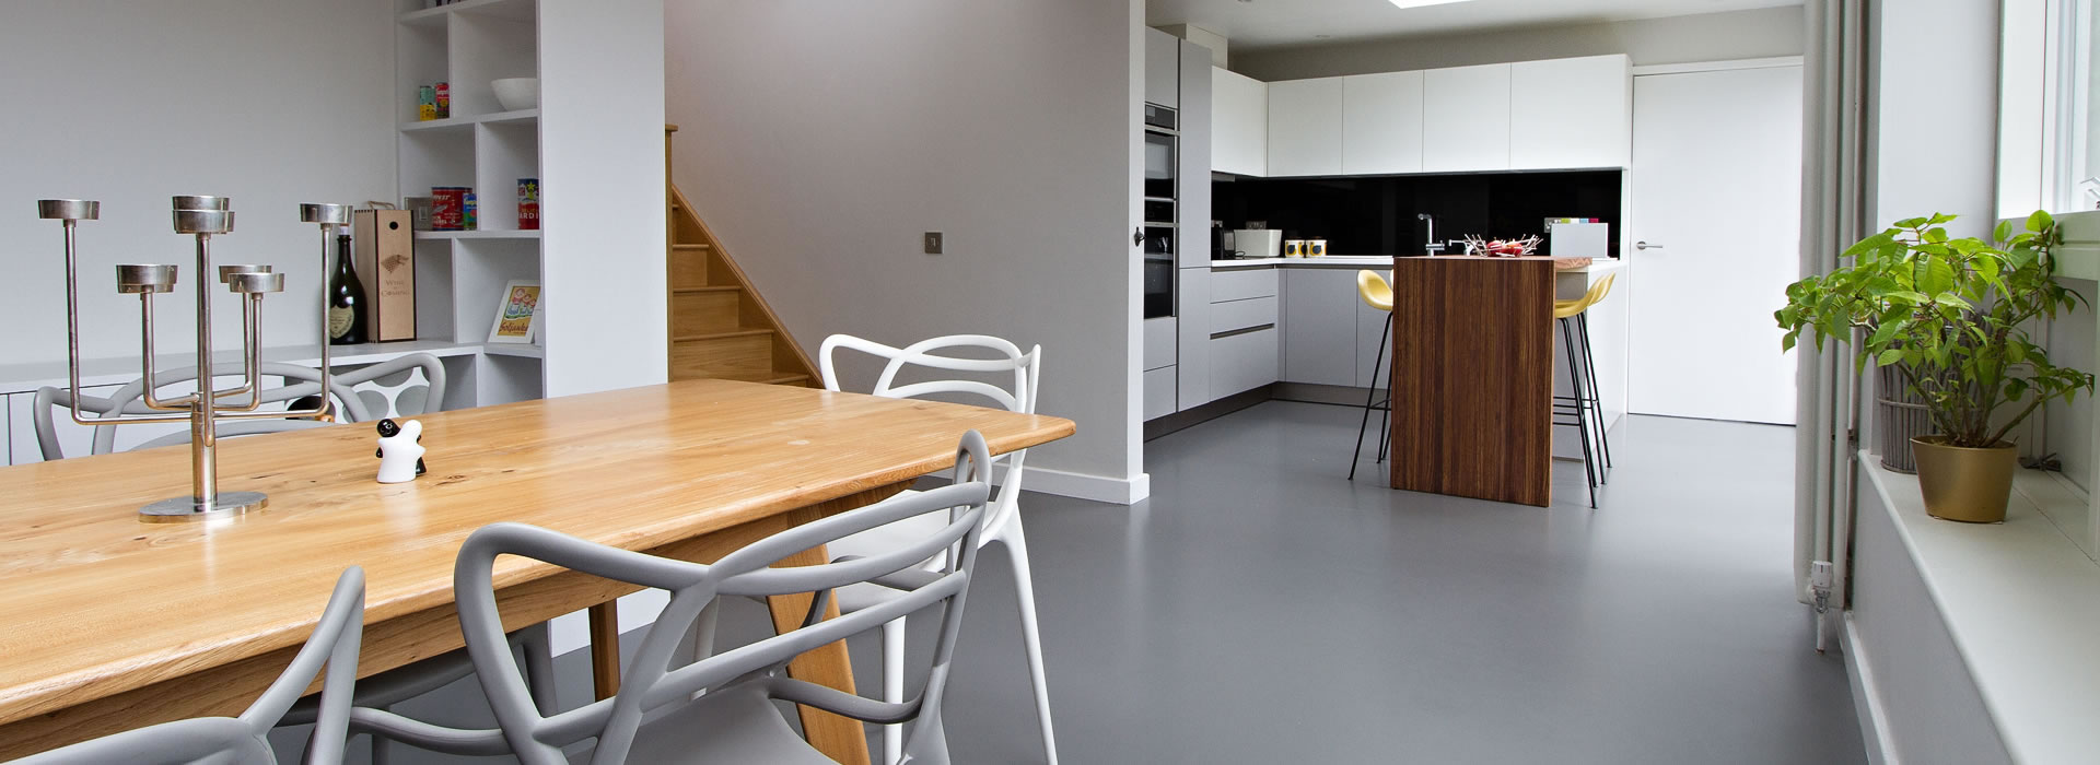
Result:
M479 405L664 381L664 2L384 2L399 193L477 195L475 231L416 233L418 335L477 348ZM498 105L500 78L540 78L540 105ZM452 111L420 122L437 82ZM546 191L538 231L519 231L519 178ZM531 346L487 342L512 279L542 285Z

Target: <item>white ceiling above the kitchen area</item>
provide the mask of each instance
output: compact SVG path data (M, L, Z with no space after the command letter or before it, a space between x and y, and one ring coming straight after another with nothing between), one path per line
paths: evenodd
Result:
M1411 38L1495 27L1602 23L1798 6L1802 0L1470 0L1394 8L1390 0L1147 0L1144 23L1193 23L1233 50Z

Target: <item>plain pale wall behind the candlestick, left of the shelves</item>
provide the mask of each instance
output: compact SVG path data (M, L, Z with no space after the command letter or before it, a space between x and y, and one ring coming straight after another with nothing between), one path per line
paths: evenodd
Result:
M298 203L395 197L393 4L332 0L8 2L0 23L0 363L65 358L65 264L46 197L101 199L82 224L84 354L134 356L139 300L113 264L178 264L155 300L164 350L195 314L193 239L168 197L233 197L216 264L265 262L288 296L265 300L265 344L315 337L319 231ZM237 304L214 327L237 344ZM174 348L168 348L174 346Z

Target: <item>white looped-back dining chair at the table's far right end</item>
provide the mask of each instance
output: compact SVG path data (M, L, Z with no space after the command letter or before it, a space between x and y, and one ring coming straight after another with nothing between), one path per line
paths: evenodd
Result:
M1042 346L1021 352L1021 346L1002 337L947 335L922 340L905 348L892 348L863 337L832 335L823 340L823 346L817 352L825 390L842 390L838 375L840 350L855 350L882 358L882 373L876 377L874 388L867 390L874 396L989 400L1006 411L1027 415L1035 413L1035 388L1042 379ZM1002 384L956 377L918 379L920 375L949 373L979 375L1000 379ZM1006 476L991 501L991 511L985 513L985 534L979 537L979 543L1004 545L1008 553L1006 560L1012 564L1014 599L1021 606L1021 650L1029 662L1029 683L1035 690L1035 719L1042 725L1044 761L1056 765L1056 736L1050 727L1050 690L1044 681L1042 635L1035 629L1035 585L1029 576L1029 545L1027 534L1021 528L1018 509L1027 449L1000 455L995 461L1004 461ZM920 518L907 524L874 528L840 539L830 547L830 551L832 555L874 555L897 549L901 541L922 537L926 524L930 524L930 520ZM939 566L939 562L926 562L926 566ZM853 612L872 608L892 597L895 591L886 591L884 587L857 585L838 593L838 606L844 612ZM903 696L903 660L905 618L897 618L882 627L882 692L886 700L895 702ZM903 734L897 725L888 725L884 729L882 748L886 763L895 765L903 748Z

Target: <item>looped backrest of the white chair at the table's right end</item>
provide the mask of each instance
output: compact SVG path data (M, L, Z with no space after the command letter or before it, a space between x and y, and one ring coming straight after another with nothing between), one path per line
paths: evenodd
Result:
M1006 411L1018 411L1025 415L1035 413L1035 390L1042 381L1044 371L1044 346L1029 348L1021 352L1021 346L991 335L943 335L920 340L905 348L884 346L874 340L863 340L855 335L832 335L823 340L817 350L819 371L823 373L825 390L840 388L838 375L838 350L848 348L876 358L882 358L882 375L876 377L876 386L867 390L874 396L886 398L920 398L920 396L941 396L941 394L964 394L991 400ZM976 350L972 358L960 356L960 350ZM991 377L1008 377L1008 386L993 386L983 379L916 379L918 373L976 373ZM987 530L998 530L1010 518L1014 518L1021 497L1023 467L1027 465L1027 449L1016 449L1012 453L1000 455L995 461L1006 463L1006 476L1000 482L1000 490L991 503L991 513L985 518Z

